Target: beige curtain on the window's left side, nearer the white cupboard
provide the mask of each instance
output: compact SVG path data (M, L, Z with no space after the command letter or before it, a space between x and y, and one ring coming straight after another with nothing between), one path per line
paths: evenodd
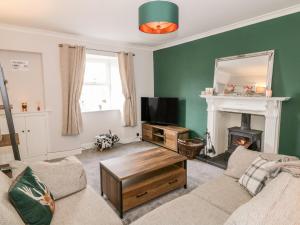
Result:
M62 135L76 136L82 130L79 98L84 78L85 47L63 44L60 48L60 68L63 95Z

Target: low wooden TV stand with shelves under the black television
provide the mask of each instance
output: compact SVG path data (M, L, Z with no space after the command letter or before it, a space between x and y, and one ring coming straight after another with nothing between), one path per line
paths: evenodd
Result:
M142 139L177 152L177 140L189 137L189 129L169 125L142 124Z

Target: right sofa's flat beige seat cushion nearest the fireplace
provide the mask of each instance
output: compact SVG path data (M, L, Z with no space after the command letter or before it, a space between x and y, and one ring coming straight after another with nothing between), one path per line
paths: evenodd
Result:
M225 175L200 185L190 194L202 198L228 214L252 198L236 179Z

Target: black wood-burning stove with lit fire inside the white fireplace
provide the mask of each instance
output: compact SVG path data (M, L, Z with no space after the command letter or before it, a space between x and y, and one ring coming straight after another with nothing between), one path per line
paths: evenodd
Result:
M261 151L262 131L251 129L251 115L242 114L240 127L228 128L228 151L232 153L238 146Z

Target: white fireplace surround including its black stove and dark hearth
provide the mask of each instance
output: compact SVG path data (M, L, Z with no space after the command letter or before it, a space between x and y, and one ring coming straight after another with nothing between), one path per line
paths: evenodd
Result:
M242 97L242 96L206 96L201 95L207 102L207 130L216 153L209 156L199 155L203 162L227 168L228 159L237 146L243 145L248 149L267 153L278 153L282 102L289 97ZM240 127L225 129L222 115L227 113L242 114ZM264 118L262 130L251 129L251 117ZM228 130L228 144L224 147L224 130Z

